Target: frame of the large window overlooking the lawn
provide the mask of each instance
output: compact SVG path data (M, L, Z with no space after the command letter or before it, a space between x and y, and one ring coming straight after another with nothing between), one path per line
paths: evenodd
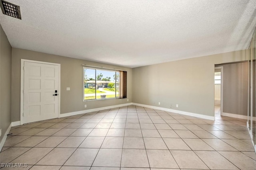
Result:
M84 69L92 69L92 70L95 70L95 98L94 99L84 99L84 89L85 89L85 82L84 82ZM118 99L119 98L119 91L118 92L116 92L116 90L117 90L117 88L116 88L116 86L117 86L117 84L118 84L118 86L119 86L119 84L120 84L120 78L118 78L118 81L117 80L115 80L115 97L113 97L113 98L99 98L99 99L97 99L97 93L96 93L96 86L97 86L97 76L96 76L96 73L97 73L97 70L103 70L103 71L113 71L113 72L115 72L115 75L117 74L117 72L119 72L119 70L114 70L114 69L107 69L107 68L97 68L97 67L91 67L91 66L83 66L83 69L82 69L82 71L83 71L83 92L82 92L82 94L83 94L83 102L87 102L87 101L94 101L94 100L107 100L107 99ZM119 74L119 73L118 73ZM98 80L98 81L100 81L100 80ZM118 87L118 90L120 90L120 87ZM118 95L117 95L117 93L118 93Z

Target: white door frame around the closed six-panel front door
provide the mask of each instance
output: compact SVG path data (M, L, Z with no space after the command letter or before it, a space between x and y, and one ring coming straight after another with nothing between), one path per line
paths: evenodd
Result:
M23 117L23 113L24 113L24 93L23 93L23 90L24 90L24 62L50 64L50 65L58 66L58 68L59 68L58 118L60 118L60 64L21 59L20 60L20 125L24 124L24 117Z

